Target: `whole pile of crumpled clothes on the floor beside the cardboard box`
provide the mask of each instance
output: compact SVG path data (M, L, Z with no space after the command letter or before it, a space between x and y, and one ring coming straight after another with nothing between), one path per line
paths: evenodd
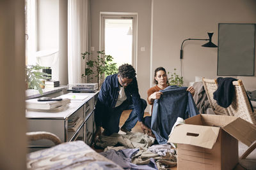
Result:
M140 132L101 136L95 144L100 153L124 169L170 169L177 165L177 153L169 144L154 145L155 138Z

